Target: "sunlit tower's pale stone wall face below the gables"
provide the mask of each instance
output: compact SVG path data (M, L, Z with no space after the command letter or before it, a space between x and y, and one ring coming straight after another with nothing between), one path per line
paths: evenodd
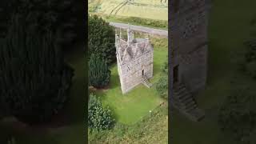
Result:
M153 76L153 51L121 65L118 69L122 92L126 93L142 82L142 70L147 78Z

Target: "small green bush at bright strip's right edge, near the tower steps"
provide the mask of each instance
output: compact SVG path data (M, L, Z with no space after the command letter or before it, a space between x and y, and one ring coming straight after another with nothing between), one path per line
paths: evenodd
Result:
M168 98L168 77L166 75L158 80L156 90L162 98Z

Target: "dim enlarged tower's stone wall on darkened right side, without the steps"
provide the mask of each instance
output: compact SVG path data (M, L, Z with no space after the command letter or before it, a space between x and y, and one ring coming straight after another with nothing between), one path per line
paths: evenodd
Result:
M198 6L183 4L177 13L171 14L171 64L178 65L179 82L191 92L206 85L207 17L204 1Z

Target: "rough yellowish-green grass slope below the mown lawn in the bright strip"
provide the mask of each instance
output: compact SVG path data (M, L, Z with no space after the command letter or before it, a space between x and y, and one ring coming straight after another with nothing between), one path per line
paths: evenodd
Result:
M168 143L167 102L133 125L117 123L113 130L92 131L89 143Z

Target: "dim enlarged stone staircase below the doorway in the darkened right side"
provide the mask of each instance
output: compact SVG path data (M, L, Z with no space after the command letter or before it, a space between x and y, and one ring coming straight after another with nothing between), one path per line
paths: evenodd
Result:
M194 97L186 89L186 86L182 83L174 85L174 107L180 110L187 117L193 121L200 121L204 118L205 114L197 106Z

